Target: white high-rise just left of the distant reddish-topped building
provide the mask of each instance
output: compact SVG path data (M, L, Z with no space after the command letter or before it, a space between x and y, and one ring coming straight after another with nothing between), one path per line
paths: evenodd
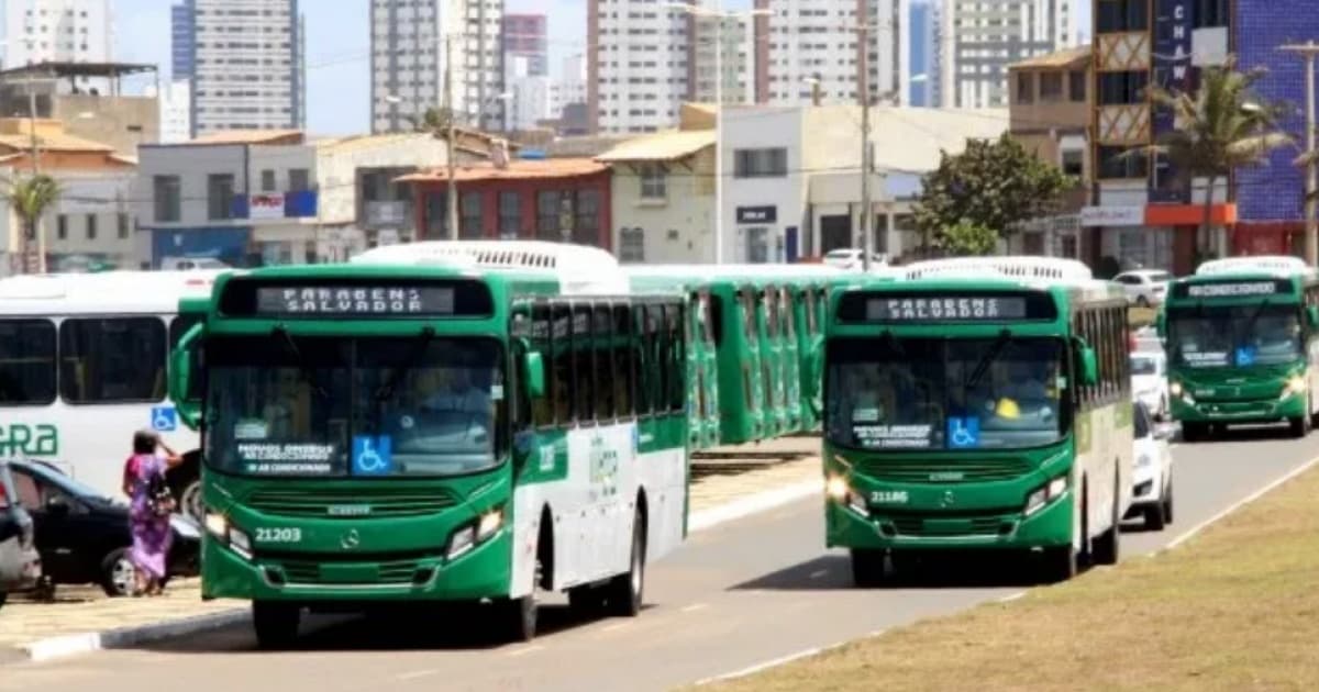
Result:
M373 0L371 103L373 132L401 132L446 103L446 40L452 54L458 124L504 125L504 0Z

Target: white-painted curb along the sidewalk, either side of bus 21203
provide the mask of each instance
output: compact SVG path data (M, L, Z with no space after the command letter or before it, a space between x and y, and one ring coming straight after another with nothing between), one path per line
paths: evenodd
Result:
M721 523L736 521L752 514L768 511L797 500L802 500L820 492L820 482L811 480L766 490L751 497L736 500L719 507L696 511L687 519L687 533L704 531ZM165 622L153 622L137 627L123 627L107 631L88 631L79 634L63 634L38 639L36 642L20 645L17 650L29 662L47 662L82 654L91 654L106 649L128 649L148 642L186 637L208 630L218 630L233 625L243 625L252 621L252 612L247 608L222 610L206 616L193 616Z

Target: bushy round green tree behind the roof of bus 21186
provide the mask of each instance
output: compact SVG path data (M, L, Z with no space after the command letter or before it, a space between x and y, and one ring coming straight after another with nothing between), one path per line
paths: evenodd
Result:
M938 237L971 224L1005 237L1017 223L1054 210L1076 181L1004 133L995 141L971 140L960 154L944 152L923 185L915 207L922 232Z

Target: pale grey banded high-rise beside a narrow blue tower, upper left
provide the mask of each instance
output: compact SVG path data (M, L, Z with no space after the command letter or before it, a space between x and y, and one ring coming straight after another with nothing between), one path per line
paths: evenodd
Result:
M306 63L298 0L190 0L193 136L302 129Z

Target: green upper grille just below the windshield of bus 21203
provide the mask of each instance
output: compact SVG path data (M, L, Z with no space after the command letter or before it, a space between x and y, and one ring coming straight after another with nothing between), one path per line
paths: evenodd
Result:
M247 505L273 517L364 519L381 517L421 517L456 505L443 489L363 489L352 490L273 490L252 493Z

